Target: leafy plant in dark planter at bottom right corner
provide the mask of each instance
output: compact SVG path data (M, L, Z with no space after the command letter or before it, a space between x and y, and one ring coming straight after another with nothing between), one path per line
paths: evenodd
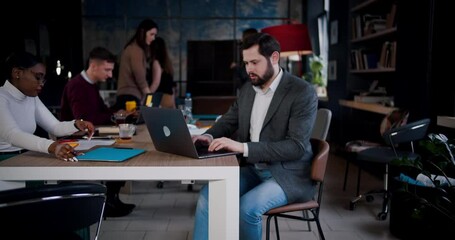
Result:
M455 146L443 134L419 142L420 158L391 162L390 231L402 239L455 234Z

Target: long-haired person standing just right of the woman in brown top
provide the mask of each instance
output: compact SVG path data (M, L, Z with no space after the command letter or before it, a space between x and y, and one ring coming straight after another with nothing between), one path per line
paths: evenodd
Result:
M161 93L161 107L175 108L175 97L174 97L174 69L172 67L172 61L169 57L169 52L166 47L164 39L156 37L152 43L152 52L154 60L152 62L152 76L153 80L150 85L152 92ZM159 86L155 87L156 83ZM153 89L156 88L156 91Z

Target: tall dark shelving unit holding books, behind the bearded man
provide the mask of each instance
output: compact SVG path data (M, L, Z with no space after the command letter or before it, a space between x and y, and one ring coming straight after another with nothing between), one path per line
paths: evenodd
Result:
M359 91L369 91L374 81L377 81L379 87L386 89L387 95L393 96L394 81L397 79L397 3L393 0L352 0L351 6L348 98ZM368 106L368 103L357 104L350 100L341 100L339 103L345 107L377 112L371 110L377 109L376 106L358 107ZM383 111L393 109L384 107L379 113L384 114Z

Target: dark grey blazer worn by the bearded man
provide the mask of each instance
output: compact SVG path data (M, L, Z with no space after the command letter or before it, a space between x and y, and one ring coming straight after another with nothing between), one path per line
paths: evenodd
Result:
M288 202L309 200L314 195L310 179L311 130L316 119L318 98L311 84L284 72L270 103L259 142L250 142L250 116L255 91L250 82L240 89L229 110L207 130L214 138L231 137L248 144L243 163L266 163L283 188Z

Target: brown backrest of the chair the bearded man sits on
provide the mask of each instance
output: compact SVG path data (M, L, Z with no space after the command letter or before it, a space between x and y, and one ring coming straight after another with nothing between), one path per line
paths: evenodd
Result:
M314 154L311 165L311 179L317 182L322 182L324 181L330 146L325 140L317 138L311 138L310 142Z

